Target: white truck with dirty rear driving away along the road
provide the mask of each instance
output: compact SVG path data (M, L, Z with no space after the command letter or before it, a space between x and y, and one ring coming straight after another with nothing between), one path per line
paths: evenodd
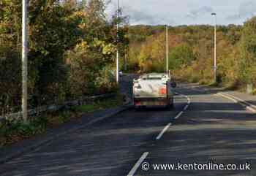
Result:
M143 74L133 80L133 104L135 107L171 107L175 87L168 74Z

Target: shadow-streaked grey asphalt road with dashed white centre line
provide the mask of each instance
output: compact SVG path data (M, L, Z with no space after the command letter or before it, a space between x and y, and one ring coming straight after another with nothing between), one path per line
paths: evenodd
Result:
M130 88L130 83L122 86ZM229 99L187 84L180 84L176 91L173 109L121 112L2 164L0 175L255 176L255 115ZM251 165L250 170L153 169L153 164L210 161ZM141 168L145 162L150 164L148 171Z

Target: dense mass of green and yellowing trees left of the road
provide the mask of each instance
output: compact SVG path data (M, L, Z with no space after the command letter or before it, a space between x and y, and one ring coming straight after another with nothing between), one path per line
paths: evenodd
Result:
M0 113L20 110L21 9L0 1ZM107 18L103 0L29 1L29 107L116 92L116 23L121 56L126 18ZM17 107L17 108L16 108Z

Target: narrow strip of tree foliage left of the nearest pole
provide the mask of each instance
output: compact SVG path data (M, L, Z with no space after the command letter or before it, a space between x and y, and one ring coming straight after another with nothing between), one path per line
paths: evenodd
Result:
M0 94L7 93L14 107L21 93L21 3L3 0L0 7Z

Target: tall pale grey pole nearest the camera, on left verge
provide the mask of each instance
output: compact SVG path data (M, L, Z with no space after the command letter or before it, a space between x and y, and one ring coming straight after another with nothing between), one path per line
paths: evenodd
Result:
M27 37L27 0L22 0L22 115L28 123L28 37Z

